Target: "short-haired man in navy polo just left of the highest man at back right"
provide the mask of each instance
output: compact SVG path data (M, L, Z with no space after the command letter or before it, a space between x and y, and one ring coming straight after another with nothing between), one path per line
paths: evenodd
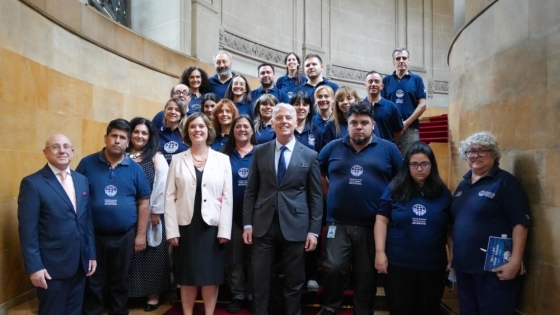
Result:
M402 134L402 118L397 105L381 97L384 86L381 74L375 70L368 72L364 86L368 93L364 102L373 106L375 129L379 131L378 135L382 139L395 143Z

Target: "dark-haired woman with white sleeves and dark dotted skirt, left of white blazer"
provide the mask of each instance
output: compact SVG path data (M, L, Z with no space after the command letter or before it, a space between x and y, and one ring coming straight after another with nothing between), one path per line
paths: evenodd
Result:
M159 245L148 244L146 250L134 253L130 269L128 296L148 297L145 311L153 311L159 306L159 295L168 290L169 254L165 241L165 219L163 215L164 190L169 166L159 149L159 136L152 123L141 117L130 121L132 134L127 148L127 155L138 163L150 183L150 220L148 233L161 231ZM158 229L161 225L161 229Z

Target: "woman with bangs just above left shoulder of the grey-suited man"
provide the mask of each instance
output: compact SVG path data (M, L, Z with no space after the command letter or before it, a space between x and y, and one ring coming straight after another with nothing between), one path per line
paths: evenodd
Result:
M257 143L265 143L276 138L272 127L272 109L278 104L278 99L272 94L263 94L255 102L253 121L255 122L255 138Z

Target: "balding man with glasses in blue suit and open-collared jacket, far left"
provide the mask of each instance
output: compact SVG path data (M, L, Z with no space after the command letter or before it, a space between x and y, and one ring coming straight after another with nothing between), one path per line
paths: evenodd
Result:
M37 287L39 314L80 314L86 276L96 269L87 179L70 170L70 140L51 136L47 165L21 181L19 238L25 271Z

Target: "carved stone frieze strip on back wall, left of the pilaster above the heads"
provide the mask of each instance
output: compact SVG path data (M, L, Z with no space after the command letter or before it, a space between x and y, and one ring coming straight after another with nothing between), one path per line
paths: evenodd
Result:
M272 49L220 29L220 47L228 47L271 63L284 64L286 52Z

